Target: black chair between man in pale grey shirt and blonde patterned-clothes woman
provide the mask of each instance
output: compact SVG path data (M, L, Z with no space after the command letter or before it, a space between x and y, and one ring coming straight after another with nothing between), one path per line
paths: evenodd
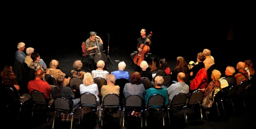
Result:
M199 109L200 109L200 114L201 114L201 120L203 120L203 114L202 114L202 109L201 109L201 103L203 101L203 97L204 97L204 93L200 90L195 90L193 91L193 93L190 95L190 97L188 97L188 101L185 105L185 118L187 119L187 109L186 107L188 105L192 105L191 108L191 113L194 112L195 106L198 104L199 105ZM186 120L186 122L188 122L188 119Z

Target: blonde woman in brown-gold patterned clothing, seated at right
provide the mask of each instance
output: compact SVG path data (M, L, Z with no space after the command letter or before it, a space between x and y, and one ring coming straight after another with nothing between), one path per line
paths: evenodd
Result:
M212 71L212 80L213 81L211 81L207 86L205 86L205 88L204 89L198 89L198 90L201 90L201 91L203 91L203 93L204 93L204 97L203 97L203 99L208 95L208 93L210 93L214 88L216 88L216 87L220 87L220 81L218 81L219 79L220 79L220 77L221 77L221 73L220 73L220 71L219 70L216 70L216 69L214 69L213 71Z

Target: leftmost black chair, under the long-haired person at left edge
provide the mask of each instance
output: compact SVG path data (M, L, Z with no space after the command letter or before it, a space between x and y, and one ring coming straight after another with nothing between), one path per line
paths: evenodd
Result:
M24 93L22 96L20 96L18 91L16 91L16 89L14 88L14 86L6 86L6 94L8 95L7 99L9 101L7 107L10 107L12 104L16 106L15 104L19 103L20 107L19 107L19 113L17 116L17 120L18 120L22 107L24 105L27 105L27 103L31 103L31 95Z

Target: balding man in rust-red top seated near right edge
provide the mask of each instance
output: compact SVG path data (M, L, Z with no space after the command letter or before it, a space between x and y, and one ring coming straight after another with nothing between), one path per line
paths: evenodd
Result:
M245 63L243 62L237 63L237 70L238 70L238 73L234 75L234 77L236 77L236 80L237 80L237 85L239 85L240 82L242 81L245 81L245 80L249 81L249 74L245 70Z

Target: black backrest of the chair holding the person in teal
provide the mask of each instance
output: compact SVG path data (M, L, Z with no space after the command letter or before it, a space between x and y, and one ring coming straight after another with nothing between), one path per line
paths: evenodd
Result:
M150 98L148 98L147 107L150 106L164 106L165 99L160 94L152 95Z

